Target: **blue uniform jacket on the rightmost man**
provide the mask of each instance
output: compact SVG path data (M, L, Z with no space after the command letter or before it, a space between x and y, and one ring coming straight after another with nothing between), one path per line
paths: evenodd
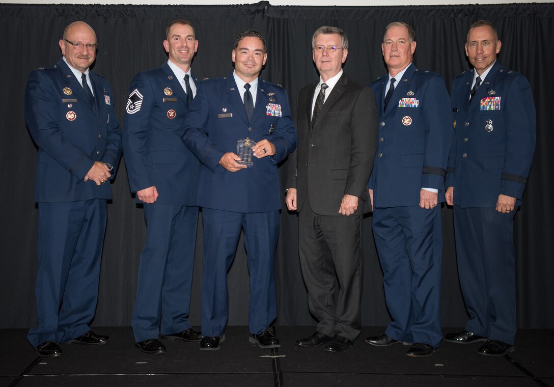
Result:
M460 207L496 207L499 194L520 205L535 151L536 112L527 79L499 61L469 104L473 70L452 85L454 137L447 187Z

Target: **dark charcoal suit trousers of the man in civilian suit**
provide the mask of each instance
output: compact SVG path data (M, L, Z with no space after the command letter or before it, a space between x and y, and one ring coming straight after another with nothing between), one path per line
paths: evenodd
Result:
M361 326L362 216L317 215L307 195L298 216L300 267L317 331L354 341Z

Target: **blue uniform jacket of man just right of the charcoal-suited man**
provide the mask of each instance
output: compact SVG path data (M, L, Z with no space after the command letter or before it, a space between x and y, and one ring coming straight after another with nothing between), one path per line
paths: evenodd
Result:
M440 75L410 64L383 112L388 76L370 85L379 111L378 141L368 183L373 207L419 205L421 188L438 189L444 202L444 176L452 128L448 92Z

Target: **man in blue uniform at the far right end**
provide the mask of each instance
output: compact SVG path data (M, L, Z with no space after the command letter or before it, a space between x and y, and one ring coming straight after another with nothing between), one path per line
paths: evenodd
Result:
M535 105L529 82L497 60L501 42L486 20L465 43L474 71L452 85L454 132L446 200L454 205L458 275L469 320L445 340L484 342L481 355L514 350L514 215L535 151Z

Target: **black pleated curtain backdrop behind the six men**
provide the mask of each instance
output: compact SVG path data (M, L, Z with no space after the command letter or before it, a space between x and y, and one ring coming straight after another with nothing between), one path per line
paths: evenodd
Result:
M176 18L193 22L199 39L192 68L199 78L227 75L236 35L260 30L268 40L263 78L289 92L294 110L302 86L317 79L311 58L311 35L321 25L348 34L345 71L369 84L386 73L381 42L384 27L396 20L416 30L414 63L441 74L448 87L470 68L464 53L469 25L493 22L502 40L499 60L524 74L531 83L537 109L537 147L521 210L515 218L517 256L517 324L519 328L554 328L552 221L553 169L551 149L551 89L554 86L554 4L500 4L418 7L277 7L269 2L242 6L83 6L0 4L0 328L35 324L34 281L37 270L37 218L34 169L37 150L23 118L24 89L30 71L60 58L58 39L64 27L84 20L98 36L94 71L112 85L119 119L132 77L166 60L165 28ZM284 162L286 163L286 161ZM281 165L281 184L286 168ZM285 187L283 187L285 188ZM139 255L145 222L129 191L124 163L112 183L102 258L98 309L94 326L129 326L135 301ZM284 205L283 198L283 208ZM443 207L443 326L464 326L452 224L452 209ZM194 267L190 320L200 323L202 220ZM362 324L384 326L390 319L384 302L382 273L371 232L364 220L365 262ZM297 255L297 216L281 212L276 255L278 325L315 324ZM229 272L229 324L247 325L248 269L242 240Z

